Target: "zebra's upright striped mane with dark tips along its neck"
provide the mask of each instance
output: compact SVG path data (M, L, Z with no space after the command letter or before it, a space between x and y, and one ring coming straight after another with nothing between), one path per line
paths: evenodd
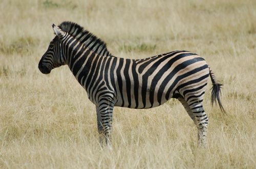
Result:
M90 50L94 51L95 53L112 56L112 54L106 48L106 43L104 41L97 38L95 35L84 29L79 24L71 21L64 21L60 23L58 27L62 31L65 31L69 35L73 36L74 38L78 38L81 43L86 45Z

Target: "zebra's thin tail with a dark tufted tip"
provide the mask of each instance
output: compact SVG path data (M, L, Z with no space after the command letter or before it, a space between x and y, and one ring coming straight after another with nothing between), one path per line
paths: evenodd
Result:
M218 83L216 78L215 78L215 75L214 73L211 71L210 67L209 67L209 74L210 74L210 79L211 79L211 82L212 82L212 91L211 91L211 105L213 106L214 103L217 104L217 101L218 101L218 104L221 108L221 111L226 113L226 111L224 110L222 104L221 104L221 99L220 99L220 94L221 94L221 86L222 84Z

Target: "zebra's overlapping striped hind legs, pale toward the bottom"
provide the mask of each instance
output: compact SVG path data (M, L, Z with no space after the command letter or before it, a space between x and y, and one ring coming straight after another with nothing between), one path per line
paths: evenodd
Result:
M206 147L208 118L203 109L202 101L197 100L188 104L183 97L178 97L178 100L182 103L187 111L187 114L198 128L198 145Z

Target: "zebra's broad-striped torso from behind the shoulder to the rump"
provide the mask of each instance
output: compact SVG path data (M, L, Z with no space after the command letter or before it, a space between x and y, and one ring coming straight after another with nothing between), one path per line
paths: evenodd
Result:
M172 51L142 60L119 58L113 72L115 106L151 108L165 103L174 94L200 93L207 84L208 65L188 51ZM174 96L174 97L175 97Z

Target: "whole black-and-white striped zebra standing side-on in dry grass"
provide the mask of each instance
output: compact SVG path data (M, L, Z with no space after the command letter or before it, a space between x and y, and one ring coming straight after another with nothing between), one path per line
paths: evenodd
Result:
M189 51L172 51L145 59L114 57L106 44L82 26L65 21L55 26L55 37L38 68L48 74L68 65L96 105L99 140L111 147L114 106L152 108L170 98L178 99L198 127L198 142L206 144L208 118L203 97L208 76L212 81L211 103L220 101L221 84L205 60Z

